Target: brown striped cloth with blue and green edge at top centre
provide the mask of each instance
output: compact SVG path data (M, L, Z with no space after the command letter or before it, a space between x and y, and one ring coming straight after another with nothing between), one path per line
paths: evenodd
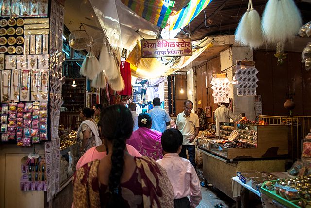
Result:
M172 13L173 3L164 5L162 0L121 0L140 17L148 20L152 24L164 28Z

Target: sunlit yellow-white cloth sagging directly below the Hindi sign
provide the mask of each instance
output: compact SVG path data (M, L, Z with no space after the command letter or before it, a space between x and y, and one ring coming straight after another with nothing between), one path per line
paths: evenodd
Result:
M193 60L195 60L202 52L213 46L213 43L209 43L206 46L193 50L192 56L182 56L179 61L174 64L171 68L159 62L156 58L141 58L141 47L140 43L137 42L132 52L126 59L131 64L132 76L150 79L161 76L168 76L175 71L186 67Z

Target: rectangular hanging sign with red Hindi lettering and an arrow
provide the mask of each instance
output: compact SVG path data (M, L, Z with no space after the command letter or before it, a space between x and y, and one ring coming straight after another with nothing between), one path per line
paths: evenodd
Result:
M192 55L190 39L141 40L141 57L157 58Z

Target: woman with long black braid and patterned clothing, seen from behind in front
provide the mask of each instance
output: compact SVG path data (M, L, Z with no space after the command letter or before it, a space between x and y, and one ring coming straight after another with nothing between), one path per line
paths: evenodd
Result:
M133 157L126 149L133 130L131 112L123 105L105 108L99 129L108 154L75 173L74 207L173 208L166 171L149 157Z

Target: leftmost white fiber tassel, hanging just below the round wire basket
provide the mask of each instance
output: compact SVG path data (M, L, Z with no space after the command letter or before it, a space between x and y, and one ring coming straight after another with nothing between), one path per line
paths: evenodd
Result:
M100 73L99 63L92 52L92 49L86 55L80 68L80 74L86 76L90 80L94 79Z

